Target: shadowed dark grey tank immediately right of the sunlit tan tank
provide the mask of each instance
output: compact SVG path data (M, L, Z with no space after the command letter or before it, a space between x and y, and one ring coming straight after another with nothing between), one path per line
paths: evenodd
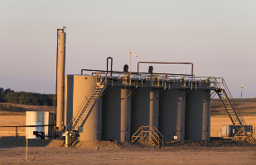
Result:
M109 87L102 101L102 139L120 141L121 87Z

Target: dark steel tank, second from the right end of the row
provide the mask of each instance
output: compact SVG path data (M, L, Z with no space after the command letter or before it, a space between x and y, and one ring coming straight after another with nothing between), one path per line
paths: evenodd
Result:
M159 98L159 131L165 142L173 140L176 135L178 140L185 139L185 99L186 90L167 89Z

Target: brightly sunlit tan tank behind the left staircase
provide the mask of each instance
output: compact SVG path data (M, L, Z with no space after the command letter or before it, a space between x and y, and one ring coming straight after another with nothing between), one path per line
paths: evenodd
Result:
M90 89L96 87L95 76L85 76L85 75L74 75L73 82L73 115L78 111L79 106L85 99L85 97L90 97ZM70 110L67 110L70 111ZM68 112L70 113L70 112ZM78 140L94 140L95 135L98 140L101 140L102 131L102 98L94 106L94 109L89 113L89 117L85 121L85 125L80 132L80 137Z

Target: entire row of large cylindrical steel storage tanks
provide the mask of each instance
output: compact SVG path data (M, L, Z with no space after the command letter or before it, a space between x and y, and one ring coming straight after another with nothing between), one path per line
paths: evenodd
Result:
M78 110L96 76L65 75L64 125ZM111 84L90 112L78 140L113 139L131 141L141 126L155 126L164 141L210 140L210 90L181 87L181 82L142 80L142 87L128 86L123 78Z

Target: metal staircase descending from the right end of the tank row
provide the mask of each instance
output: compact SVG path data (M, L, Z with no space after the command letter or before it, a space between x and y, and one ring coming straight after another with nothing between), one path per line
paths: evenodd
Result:
M246 125L244 118L239 113L239 108L235 105L234 99L229 92L229 88L227 87L225 80L222 79L223 87L220 86L219 82L216 82L217 87L215 92L220 97L220 101L222 102L225 110L227 111L230 120L234 125L234 129L236 130L236 134L234 137L238 139L245 139L248 136L252 135L252 131L249 128L249 125Z

